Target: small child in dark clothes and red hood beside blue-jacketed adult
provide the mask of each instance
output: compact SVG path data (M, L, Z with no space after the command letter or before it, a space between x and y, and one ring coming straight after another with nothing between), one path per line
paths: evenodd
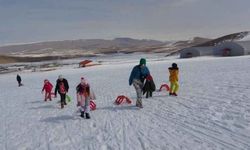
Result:
M152 97L152 93L155 91L155 83L151 75L148 75L146 77L146 82L142 90L143 90L143 95L146 93L146 98Z

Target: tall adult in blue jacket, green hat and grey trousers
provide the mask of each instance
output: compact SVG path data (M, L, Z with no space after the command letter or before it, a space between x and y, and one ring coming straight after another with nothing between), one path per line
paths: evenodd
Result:
M145 78L150 74L147 66L146 66L146 59L141 58L140 64L134 66L130 77L129 77L129 85L134 86L137 100L136 100L136 106L143 108L142 106L142 88Z

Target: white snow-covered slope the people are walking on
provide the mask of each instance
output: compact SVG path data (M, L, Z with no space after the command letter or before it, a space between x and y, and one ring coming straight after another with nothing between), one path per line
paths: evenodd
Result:
M119 63L88 68L21 72L22 87L15 73L0 75L0 149L250 149L250 56L149 58L158 88L168 83L167 68L178 64L180 90L177 97L154 92L143 98L143 109L134 106L136 93L128 85L134 60L121 56ZM74 99L65 109L59 98L44 102L41 94L43 80L55 84L59 74L68 79ZM97 96L90 120L77 114L81 76ZM131 98L132 105L114 105L118 95Z

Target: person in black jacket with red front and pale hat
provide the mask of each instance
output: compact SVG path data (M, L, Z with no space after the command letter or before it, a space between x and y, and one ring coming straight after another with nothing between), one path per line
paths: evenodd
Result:
M56 88L55 88L55 97L57 95L57 91L60 94L61 97L61 108L64 108L64 105L67 105L66 103L66 93L69 90L69 84L66 79L63 78L62 75L59 75L57 81L56 81Z

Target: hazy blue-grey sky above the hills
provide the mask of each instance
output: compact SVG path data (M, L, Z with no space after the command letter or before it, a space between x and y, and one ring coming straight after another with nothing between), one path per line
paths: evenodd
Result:
M249 7L250 0L0 0L0 45L215 38L250 30Z

